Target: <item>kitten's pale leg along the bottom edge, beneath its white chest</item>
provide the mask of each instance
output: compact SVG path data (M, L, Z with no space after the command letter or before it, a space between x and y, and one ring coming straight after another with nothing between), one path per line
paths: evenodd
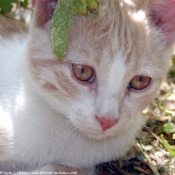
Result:
M75 174L75 175L94 175L93 168L72 168L63 165L46 165L42 168L36 169L34 172L37 172L40 175L48 174ZM43 172L43 174L42 174Z

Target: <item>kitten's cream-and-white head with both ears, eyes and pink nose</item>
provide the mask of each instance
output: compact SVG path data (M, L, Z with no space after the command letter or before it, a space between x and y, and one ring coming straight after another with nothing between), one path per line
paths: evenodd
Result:
M175 1L99 0L95 19L76 16L61 61L50 39L56 3L34 3L29 43L34 81L73 130L93 139L132 135L144 123L136 114L152 101L169 67Z

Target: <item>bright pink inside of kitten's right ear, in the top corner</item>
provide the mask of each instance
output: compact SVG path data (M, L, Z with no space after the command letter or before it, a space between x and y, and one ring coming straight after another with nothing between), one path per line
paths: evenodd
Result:
M151 19L168 44L175 42L175 0L150 0Z

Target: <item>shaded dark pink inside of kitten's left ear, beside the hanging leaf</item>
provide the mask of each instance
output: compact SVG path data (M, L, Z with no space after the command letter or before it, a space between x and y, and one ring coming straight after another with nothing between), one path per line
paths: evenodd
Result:
M43 27L52 18L58 0L32 0L37 27Z

